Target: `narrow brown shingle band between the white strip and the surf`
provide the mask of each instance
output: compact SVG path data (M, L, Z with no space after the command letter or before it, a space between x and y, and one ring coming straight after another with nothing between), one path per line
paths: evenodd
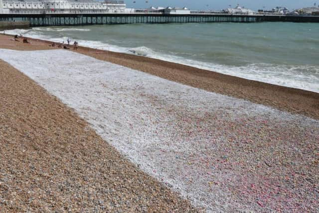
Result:
M22 40L21 43L7 42L12 37L12 35L1 35L0 48L16 50L57 48L49 46L52 43L51 41L30 37L27 37L27 39L31 41L31 44L23 44ZM70 51L76 51L99 60L109 61L167 80L319 119L319 93L316 92L248 80L145 56L83 46L73 50L72 45L70 47Z

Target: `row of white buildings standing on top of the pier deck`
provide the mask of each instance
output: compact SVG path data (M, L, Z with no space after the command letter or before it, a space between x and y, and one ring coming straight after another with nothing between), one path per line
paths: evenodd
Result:
M228 13L249 14L255 11L240 7L228 8L221 11L212 10L189 10L186 7L151 7L149 9L126 8L124 0L104 1L77 1L77 0L43 0L43 1L11 1L0 0L0 14L81 14L81 13L158 13L158 14L198 14L198 13Z

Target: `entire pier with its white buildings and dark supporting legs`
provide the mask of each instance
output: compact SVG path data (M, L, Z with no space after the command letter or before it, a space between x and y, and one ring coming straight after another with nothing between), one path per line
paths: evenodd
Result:
M190 22L319 22L316 15L265 14L241 8L189 10L183 8L126 8L123 0L97 1L6 1L0 0L0 21L28 21L30 26L190 23Z

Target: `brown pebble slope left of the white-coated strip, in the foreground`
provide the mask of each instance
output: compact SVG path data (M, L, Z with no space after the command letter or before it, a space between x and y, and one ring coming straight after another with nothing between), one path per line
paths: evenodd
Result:
M0 212L197 212L0 60Z

